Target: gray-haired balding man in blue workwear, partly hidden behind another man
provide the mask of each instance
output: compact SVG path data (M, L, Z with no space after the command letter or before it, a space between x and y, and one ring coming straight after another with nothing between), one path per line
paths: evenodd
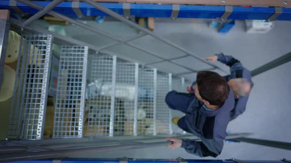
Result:
M230 114L230 120L233 120L246 110L249 94L254 85L251 72L246 69L239 60L235 59L231 55L224 55L220 53L206 57L205 59L211 60L212 63L218 60L230 67L230 75L224 76L223 78L228 82L228 85L232 89L235 97L235 105ZM187 91L189 93L194 92L195 84L196 82L194 81L192 85L187 87Z

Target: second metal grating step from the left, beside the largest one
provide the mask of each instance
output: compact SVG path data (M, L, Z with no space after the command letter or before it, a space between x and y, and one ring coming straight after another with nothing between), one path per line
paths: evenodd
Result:
M62 46L53 137L82 137L88 47Z

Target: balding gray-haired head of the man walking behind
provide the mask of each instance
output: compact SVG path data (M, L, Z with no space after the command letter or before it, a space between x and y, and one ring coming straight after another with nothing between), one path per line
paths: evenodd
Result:
M252 89L252 84L250 81L244 78L231 79L228 81L228 84L231 87L234 96L237 98L247 96Z

